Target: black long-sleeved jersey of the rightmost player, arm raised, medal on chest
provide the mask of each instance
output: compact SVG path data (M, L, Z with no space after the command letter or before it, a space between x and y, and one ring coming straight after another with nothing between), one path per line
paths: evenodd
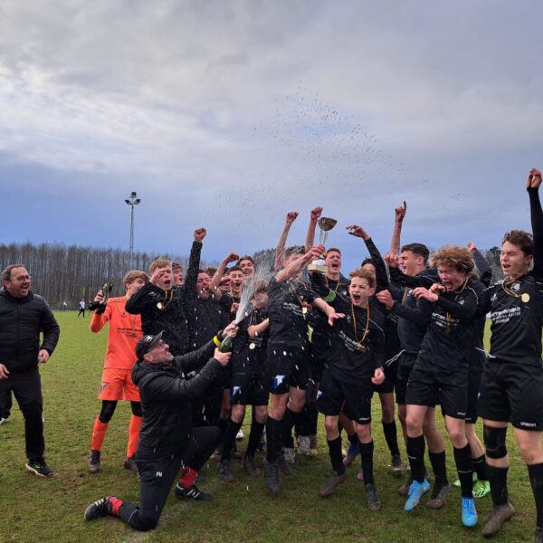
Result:
M512 281L488 289L491 310L491 359L541 368L543 325L543 212L538 189L529 188L534 267Z

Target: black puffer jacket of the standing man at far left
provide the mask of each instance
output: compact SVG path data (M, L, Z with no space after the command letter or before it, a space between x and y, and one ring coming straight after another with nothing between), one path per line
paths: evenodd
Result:
M0 290L0 364L10 373L37 367L40 349L51 355L60 333L51 308L41 296L30 291L24 298L14 298L5 289Z

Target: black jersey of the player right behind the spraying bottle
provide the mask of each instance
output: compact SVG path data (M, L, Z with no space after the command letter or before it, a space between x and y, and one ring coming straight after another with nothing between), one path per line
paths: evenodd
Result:
M233 338L232 372L247 375L263 375L266 367L266 345L269 328L254 338L249 337L250 326L268 318L268 310L248 308L249 314L239 323L237 336Z

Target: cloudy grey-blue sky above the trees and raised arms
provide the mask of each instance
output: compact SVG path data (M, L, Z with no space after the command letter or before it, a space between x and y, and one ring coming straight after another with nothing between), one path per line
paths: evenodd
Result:
M529 228L543 167L543 5L510 2L5 0L3 243L188 253L272 247L297 210L403 241L500 243ZM347 271L347 270L346 270Z

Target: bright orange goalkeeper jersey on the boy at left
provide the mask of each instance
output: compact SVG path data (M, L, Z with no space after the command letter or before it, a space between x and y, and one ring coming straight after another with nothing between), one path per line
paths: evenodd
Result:
M106 322L110 322L104 367L132 369L136 362L136 344L143 336L141 317L127 313L126 303L126 296L110 298L106 310L101 315L95 312L90 320L93 332L99 332Z

